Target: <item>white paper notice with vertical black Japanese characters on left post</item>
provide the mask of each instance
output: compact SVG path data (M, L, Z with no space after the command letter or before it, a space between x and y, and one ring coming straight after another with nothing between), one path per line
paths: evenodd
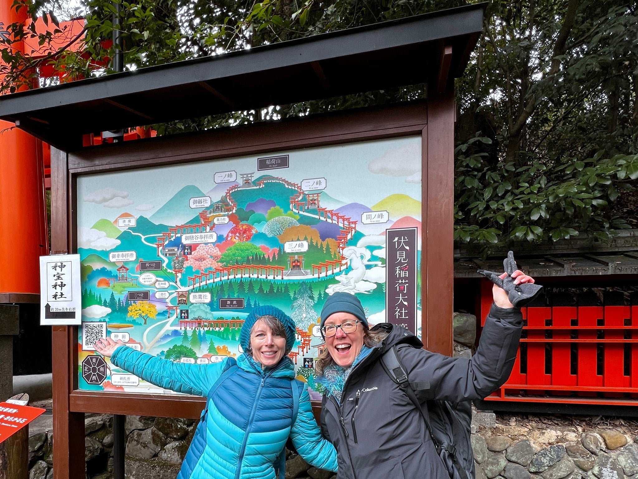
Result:
M80 255L40 256L40 325L82 324Z

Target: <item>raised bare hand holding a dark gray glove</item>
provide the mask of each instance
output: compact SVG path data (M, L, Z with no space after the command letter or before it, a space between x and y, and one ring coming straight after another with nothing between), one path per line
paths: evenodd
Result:
M514 253L507 253L503 260L503 274L480 269L478 272L494 283L492 295L498 307L523 307L538 296L542 286L534 284L534 279L517 269Z

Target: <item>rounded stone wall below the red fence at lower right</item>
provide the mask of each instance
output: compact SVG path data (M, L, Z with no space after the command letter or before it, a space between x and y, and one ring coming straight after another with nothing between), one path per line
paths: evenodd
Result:
M625 479L638 473L638 427L631 420L475 412L471 432L477 479Z

